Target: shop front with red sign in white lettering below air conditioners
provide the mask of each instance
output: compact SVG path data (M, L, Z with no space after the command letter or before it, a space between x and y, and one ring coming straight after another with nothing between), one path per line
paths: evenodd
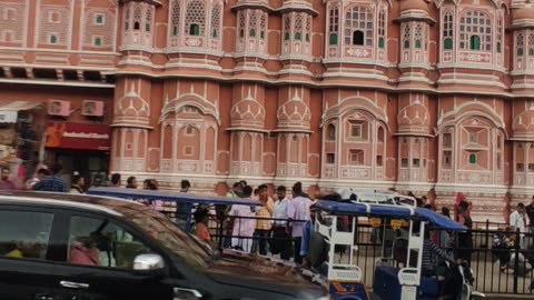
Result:
M108 124L48 122L46 161L59 161L68 182L79 172L90 186L108 173L110 138Z

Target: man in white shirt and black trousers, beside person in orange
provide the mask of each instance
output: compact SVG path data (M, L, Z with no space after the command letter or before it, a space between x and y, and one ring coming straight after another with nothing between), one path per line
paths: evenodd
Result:
M277 200L273 210L273 242L270 252L280 254L283 260L289 260L290 237L287 234L287 207L289 200L286 198L286 187L280 186L276 189Z

